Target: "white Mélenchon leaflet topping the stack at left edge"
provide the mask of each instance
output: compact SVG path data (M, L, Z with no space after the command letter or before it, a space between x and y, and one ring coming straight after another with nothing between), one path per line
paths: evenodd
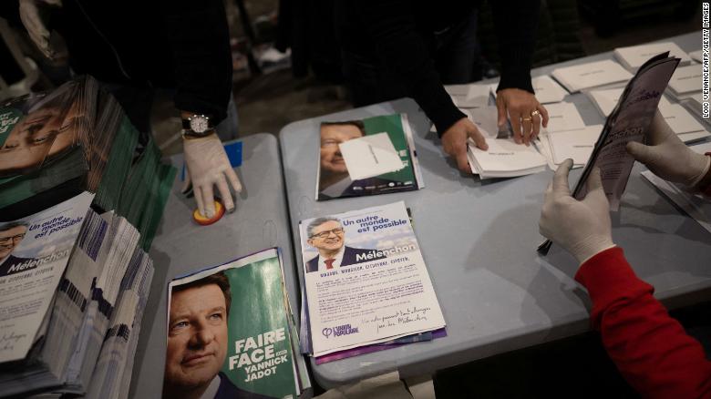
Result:
M27 218L0 222L0 363L25 359L41 338L93 198L83 192Z

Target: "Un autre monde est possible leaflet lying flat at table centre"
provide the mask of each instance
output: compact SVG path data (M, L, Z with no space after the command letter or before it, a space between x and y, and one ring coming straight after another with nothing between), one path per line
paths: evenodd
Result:
M444 327L405 204L300 223L314 356Z

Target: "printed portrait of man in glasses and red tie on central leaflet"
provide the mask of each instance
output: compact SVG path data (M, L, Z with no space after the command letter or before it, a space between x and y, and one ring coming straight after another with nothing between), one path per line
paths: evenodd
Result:
M308 236L306 242L318 250L318 255L306 262L307 273L330 271L364 261L385 258L382 252L379 256L375 252L374 257L366 259L363 255L373 252L373 250L351 248L345 245L345 229L341 221L336 218L326 217L312 220L306 227L306 234Z

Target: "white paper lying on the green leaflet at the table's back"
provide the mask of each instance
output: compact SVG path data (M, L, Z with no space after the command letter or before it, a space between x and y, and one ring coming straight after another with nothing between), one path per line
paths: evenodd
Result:
M374 178L405 168L387 133L354 138L338 148L351 180Z

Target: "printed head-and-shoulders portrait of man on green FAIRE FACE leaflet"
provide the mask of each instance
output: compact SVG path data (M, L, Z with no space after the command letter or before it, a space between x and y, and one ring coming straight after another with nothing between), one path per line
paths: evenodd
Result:
M220 371L231 302L230 281L222 271L172 287L164 398L268 398L238 388Z

